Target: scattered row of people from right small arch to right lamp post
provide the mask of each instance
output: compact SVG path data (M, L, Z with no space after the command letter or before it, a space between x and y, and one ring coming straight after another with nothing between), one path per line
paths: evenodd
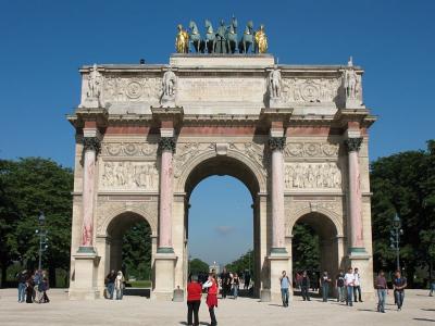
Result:
M315 275L315 274L314 274ZM310 301L310 287L311 279L307 271L297 273L295 277L296 287L300 289L303 301ZM314 283L318 279L313 279ZM279 277L281 293L283 300L283 306L288 306L288 291L290 288L290 279L288 278L286 271L283 271ZM320 289L322 292L323 302L327 302L330 297L330 290L333 288L334 283L330 277L328 273L324 271L319 277ZM406 277L401 276L400 271L396 271L393 278L393 289L395 304L397 304L397 310L400 311L405 299L405 288L408 286ZM315 286L314 286L315 287ZM349 267L347 273L339 271L338 275L335 277L335 288L337 292L337 302L346 302L346 305L352 306L353 302L362 302L361 297L361 275L358 268ZM378 303L377 312L385 313L385 300L386 294L388 294L387 280L385 274L381 271L375 280L375 288L377 290Z

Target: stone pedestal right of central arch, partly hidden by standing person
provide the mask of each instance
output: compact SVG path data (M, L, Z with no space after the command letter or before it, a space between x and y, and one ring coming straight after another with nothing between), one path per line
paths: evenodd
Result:
M283 271L288 271L288 260L290 256L285 253L272 253L269 259L270 264L270 277L271 277L271 293L270 293L270 301L282 303L281 297L281 285L279 285L279 277L282 276ZM288 275L288 278L291 281L291 275ZM265 293L264 293L265 294ZM291 288L288 289L289 301L293 299L293 290Z

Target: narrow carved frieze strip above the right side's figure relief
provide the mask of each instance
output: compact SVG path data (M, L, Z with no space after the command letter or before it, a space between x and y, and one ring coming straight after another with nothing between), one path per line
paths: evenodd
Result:
M324 158L337 156L338 143L330 142L289 142L287 143L284 155L293 158Z

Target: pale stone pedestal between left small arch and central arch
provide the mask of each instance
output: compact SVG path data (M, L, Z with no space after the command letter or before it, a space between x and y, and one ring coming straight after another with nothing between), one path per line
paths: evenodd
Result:
M154 258L156 281L152 299L171 301L175 289L175 263L174 253L157 253Z

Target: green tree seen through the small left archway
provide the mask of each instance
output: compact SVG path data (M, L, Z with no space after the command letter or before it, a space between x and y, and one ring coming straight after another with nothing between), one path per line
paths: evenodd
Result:
M126 277L151 279L151 227L145 221L124 234L122 255Z

